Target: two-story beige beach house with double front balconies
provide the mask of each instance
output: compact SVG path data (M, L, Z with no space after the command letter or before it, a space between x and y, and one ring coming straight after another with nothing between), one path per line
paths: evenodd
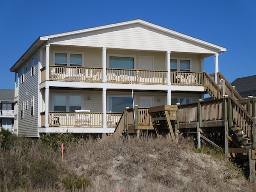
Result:
M18 135L113 133L126 106L196 102L225 51L140 19L41 36L10 69Z

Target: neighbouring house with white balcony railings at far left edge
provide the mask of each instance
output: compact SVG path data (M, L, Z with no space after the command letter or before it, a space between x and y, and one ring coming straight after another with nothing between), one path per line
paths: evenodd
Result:
M0 128L14 132L14 90L0 89Z

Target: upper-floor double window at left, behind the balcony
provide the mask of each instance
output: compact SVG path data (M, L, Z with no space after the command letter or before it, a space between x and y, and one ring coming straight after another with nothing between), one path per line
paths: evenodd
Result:
M80 53L55 53L54 64L60 66L82 66L83 55Z

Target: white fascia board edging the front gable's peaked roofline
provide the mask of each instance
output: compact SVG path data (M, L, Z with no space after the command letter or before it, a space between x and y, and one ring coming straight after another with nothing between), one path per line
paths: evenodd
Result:
M147 27L154 28L156 30L160 30L162 32L169 33L171 35L175 35L175 36L180 37L180 38L187 39L189 41L196 42L198 44L203 44L203 45L205 45L207 47L214 48L214 49L217 50L218 53L224 52L224 51L227 50L225 47L221 47L219 45L212 44L212 43L209 43L207 41L203 41L201 39L194 38L192 36L185 35L183 33L180 33L180 32L174 31L174 30L170 30L170 29L168 29L166 27L161 27L161 26L156 25L156 24L149 23L149 22L141 20L141 19L125 21L125 22L116 23L116 24L108 24L108 25L103 25L103 26L99 26L99 27L91 27L91 28L87 28L87 29L83 29L83 30L75 30L75 31L70 31L70 32L57 33L57 34L53 34L53 35L46 35L46 36L40 37L40 40L47 41L47 40L49 40L51 38L57 38L57 37L62 37L62 36L74 35L74 34L79 34L79 33L83 33L83 32L91 32L91 31L96 31L96 30L103 30L103 29L107 29L107 28L120 27L120 26L124 26L124 25L129 25L129 24L136 24L136 23L137 24L142 24L142 25L147 26Z

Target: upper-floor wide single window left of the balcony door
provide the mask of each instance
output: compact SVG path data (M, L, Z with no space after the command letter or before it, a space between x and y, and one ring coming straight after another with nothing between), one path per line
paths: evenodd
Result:
M134 69L134 57L110 56L109 67L121 69Z

